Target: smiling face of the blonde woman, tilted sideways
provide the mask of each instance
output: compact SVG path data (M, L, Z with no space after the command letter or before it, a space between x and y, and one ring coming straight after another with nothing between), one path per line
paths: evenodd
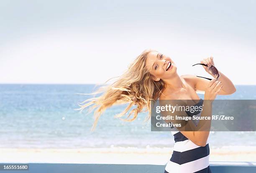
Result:
M156 81L172 78L177 70L175 63L170 57L156 51L148 53L146 68L154 76L154 80Z

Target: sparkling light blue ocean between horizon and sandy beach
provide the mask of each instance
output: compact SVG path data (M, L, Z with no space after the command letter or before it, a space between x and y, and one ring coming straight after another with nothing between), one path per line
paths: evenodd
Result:
M125 105L101 115L91 132L93 112L74 110L92 93L95 85L0 85L0 148L113 148L173 147L171 132L151 132L147 113L133 122L114 118ZM216 99L256 99L256 85L236 85L233 95ZM200 95L203 98L203 95ZM256 146L256 132L211 132L209 145Z

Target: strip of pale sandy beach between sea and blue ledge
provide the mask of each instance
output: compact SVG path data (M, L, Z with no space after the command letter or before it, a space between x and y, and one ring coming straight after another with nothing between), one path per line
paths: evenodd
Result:
M0 163L100 163L165 165L172 148L0 148ZM210 161L256 161L256 147L210 149Z

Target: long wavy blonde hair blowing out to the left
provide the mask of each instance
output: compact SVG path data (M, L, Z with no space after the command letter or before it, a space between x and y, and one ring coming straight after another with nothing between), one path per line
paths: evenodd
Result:
M118 76L118 79L113 84L102 86L95 93L90 93L103 93L102 95L99 97L89 98L84 100L82 103L79 103L80 108L76 110L80 110L80 112L90 105L92 106L88 110L88 113L97 108L97 110L94 111L95 120L91 130L94 130L100 115L106 110L106 108L116 104L129 103L123 112L115 115L115 118L121 118L124 116L133 105L136 105L136 108L132 109L127 117L122 120L133 121L138 116L138 113L146 111L148 111L148 118L145 120L148 120L151 117L151 101L156 101L162 91L166 88L164 81L161 79L159 81L154 81L152 75L146 68L147 55L151 51L153 50L146 49L141 53L141 55L138 55L137 58L128 65L128 69L123 73L123 75ZM146 109L143 110L143 108ZM131 115L133 115L133 118L129 119Z

